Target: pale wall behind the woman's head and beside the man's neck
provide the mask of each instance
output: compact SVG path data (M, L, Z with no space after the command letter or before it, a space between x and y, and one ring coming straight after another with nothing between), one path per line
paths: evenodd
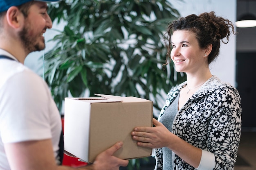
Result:
M177 9L182 16L192 13L198 15L203 12L215 11L216 15L225 17L232 22L236 20L236 0L170 0L173 7ZM54 24L53 28L63 29ZM45 33L46 42L51 39L56 32L47 30ZM47 43L45 52L53 44ZM43 61L38 60L43 52L33 52L25 60L25 65L42 75ZM211 64L212 74L217 75L222 81L226 81L235 86L235 61L236 61L236 36L231 36L228 44L221 44L220 55L216 62Z

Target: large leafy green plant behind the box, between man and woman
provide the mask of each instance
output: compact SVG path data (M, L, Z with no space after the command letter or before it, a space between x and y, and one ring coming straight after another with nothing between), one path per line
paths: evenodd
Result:
M136 96L154 101L184 81L173 63L162 69L162 37L179 16L167 0L63 0L49 4L63 31L45 54L45 80L59 108L68 95ZM165 96L163 96L165 98Z

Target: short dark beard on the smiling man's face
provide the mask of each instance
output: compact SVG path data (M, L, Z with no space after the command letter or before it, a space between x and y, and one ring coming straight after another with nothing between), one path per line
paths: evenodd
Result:
M40 39L40 36L34 36L31 37L28 34L28 27L24 27L22 29L22 31L20 31L19 35L20 35L20 40L27 52L27 54L29 54L30 52L34 52L34 51L41 51L45 49L45 40L42 41L43 44L40 44L38 41L38 39Z

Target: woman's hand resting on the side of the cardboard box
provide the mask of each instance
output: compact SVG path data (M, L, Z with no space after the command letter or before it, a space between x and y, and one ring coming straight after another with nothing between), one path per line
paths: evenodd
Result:
M135 127L132 139L137 140L137 145L148 148L169 147L171 137L175 136L162 123L153 118L155 127Z

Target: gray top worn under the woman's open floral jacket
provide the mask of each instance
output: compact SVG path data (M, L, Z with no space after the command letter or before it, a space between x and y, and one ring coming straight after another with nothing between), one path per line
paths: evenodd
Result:
M180 93L159 120L170 132L173 130L173 120L178 112L179 98ZM173 151L167 147L163 148L163 170L173 170Z

